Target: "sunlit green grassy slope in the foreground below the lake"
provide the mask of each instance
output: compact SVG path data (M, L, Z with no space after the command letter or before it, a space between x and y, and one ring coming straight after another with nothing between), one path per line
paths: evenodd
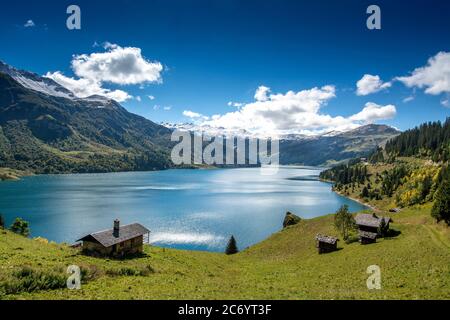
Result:
M147 257L102 260L64 245L42 244L0 231L0 283L29 265L63 272L76 264L91 277L79 291L58 289L3 298L33 299L450 299L450 231L429 218L429 206L394 215L394 239L318 255L314 236L333 235L332 216L304 220L246 251L225 256L146 247ZM383 289L366 288L366 268L381 267ZM111 276L111 270L142 270L146 276ZM1 296L0 296L1 297Z

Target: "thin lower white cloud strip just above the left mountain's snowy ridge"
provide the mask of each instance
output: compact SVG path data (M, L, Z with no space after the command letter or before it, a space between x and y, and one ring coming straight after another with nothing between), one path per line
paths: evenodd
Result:
M61 72L48 72L45 77L54 80L63 87L72 91L79 98L87 98L93 95L100 95L107 97L109 99L116 100L118 102L123 102L131 99L127 92L123 90L109 90L101 87L101 84L90 79L75 79L71 77L66 77Z

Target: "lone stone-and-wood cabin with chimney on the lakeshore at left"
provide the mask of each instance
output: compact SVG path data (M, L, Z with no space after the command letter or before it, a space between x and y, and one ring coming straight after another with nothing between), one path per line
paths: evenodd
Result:
M144 236L150 230L139 223L120 226L119 220L114 221L114 228L91 233L79 240L82 250L94 256L123 257L144 251Z

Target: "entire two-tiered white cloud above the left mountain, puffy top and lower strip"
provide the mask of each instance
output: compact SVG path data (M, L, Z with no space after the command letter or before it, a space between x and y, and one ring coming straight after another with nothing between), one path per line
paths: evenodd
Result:
M48 72L45 76L72 91L79 98L101 95L118 102L131 99L123 90L104 88L104 83L116 85L136 85L159 83L162 81L163 66L142 56L141 49L121 47L106 42L106 52L75 55L72 70L78 78L67 77L62 72ZM150 97L150 96L149 96ZM140 101L140 97L136 98Z

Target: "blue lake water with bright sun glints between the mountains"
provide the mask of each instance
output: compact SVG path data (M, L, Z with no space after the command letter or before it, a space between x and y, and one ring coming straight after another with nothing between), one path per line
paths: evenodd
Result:
M168 170L84 175L42 175L0 182L0 212L30 222L33 237L73 243L79 237L139 222L159 246L223 251L233 234L243 249L282 227L286 211L303 218L364 207L318 181L320 170Z

